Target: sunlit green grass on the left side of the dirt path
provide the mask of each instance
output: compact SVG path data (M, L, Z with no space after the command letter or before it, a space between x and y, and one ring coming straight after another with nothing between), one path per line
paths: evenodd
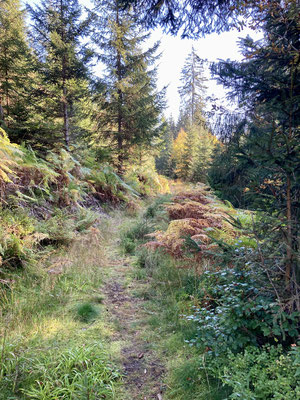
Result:
M105 246L97 232L82 235L8 276L10 288L0 291L1 400L116 399L114 329L100 312Z

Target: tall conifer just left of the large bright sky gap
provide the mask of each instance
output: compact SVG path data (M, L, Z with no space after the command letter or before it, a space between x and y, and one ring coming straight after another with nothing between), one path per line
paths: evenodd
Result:
M96 1L96 44L106 66L106 94L99 133L111 147L120 174L134 147L147 148L161 132L163 93L157 93L154 64L158 44L143 52L143 34L119 0Z

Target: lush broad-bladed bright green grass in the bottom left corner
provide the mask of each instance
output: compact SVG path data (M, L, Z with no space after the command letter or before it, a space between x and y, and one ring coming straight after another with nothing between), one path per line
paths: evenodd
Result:
M8 345L3 353L0 398L113 399L120 374L99 342L85 341L56 338L39 341L38 349L34 341L26 348Z

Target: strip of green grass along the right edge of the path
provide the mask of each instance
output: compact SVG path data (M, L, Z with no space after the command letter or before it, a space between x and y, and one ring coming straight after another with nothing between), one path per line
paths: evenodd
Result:
M166 362L166 400L222 400L226 391L205 363L205 357L196 347L187 343L197 327L183 318L196 305L199 278L194 271L184 269L182 261L160 251L151 251L140 245L147 241L143 224L164 229L167 222L162 204L164 198L150 205L139 221L133 222L123 238L130 238L135 254L133 278L148 282L134 295L146 301L144 340Z

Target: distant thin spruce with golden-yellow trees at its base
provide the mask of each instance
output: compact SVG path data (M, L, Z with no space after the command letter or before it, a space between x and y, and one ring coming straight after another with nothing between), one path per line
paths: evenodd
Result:
M212 153L218 144L205 118L206 78L203 60L194 47L181 72L181 108L177 123L168 121L156 159L160 173L190 182L206 182Z

